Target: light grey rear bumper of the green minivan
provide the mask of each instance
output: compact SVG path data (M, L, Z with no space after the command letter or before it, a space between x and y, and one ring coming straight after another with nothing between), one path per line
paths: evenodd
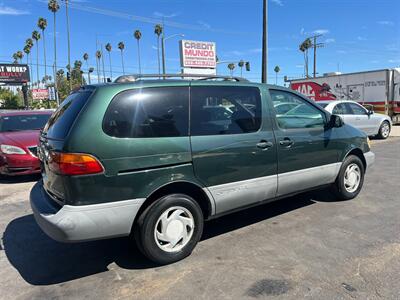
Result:
M59 206L45 192L42 181L36 183L30 193L36 222L48 236L59 242L127 236L144 200Z

